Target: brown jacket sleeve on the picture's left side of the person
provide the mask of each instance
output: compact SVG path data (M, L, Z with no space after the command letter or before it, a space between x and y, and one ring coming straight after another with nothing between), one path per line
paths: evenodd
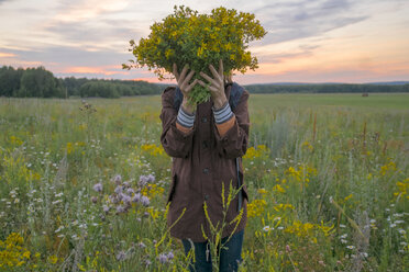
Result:
M186 158L192 147L195 126L188 133L176 127L178 112L174 107L174 93L175 88L167 88L162 94L161 144L170 157Z

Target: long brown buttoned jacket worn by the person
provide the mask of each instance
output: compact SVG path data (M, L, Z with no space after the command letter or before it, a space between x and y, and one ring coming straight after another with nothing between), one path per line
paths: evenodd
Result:
M232 88L225 89L229 100ZM179 239L190 238L192 241L206 241L202 227L207 237L211 238L209 223L204 216L203 204L207 202L209 217L215 226L223 219L222 183L224 183L225 200L229 184L237 188L235 158L242 157L247 148L248 140L248 92L243 91L237 105L232 109L234 123L220 136L213 113L212 102L201 103L197 106L194 128L183 132L178 128L176 118L178 110L175 109L176 88L168 87L162 94L161 120L163 132L161 143L165 151L173 157L172 185L167 202L170 202L167 215L168 226L173 226L183 211L185 214L170 229L170 235ZM220 126L220 125L219 125ZM243 166L240 159L240 178L243 181ZM245 184L243 194L243 216L235 233L244 229L247 220L247 189ZM232 234L235 224L230 222L237 212L237 196L232 201L223 229L222 238ZM201 227L202 226L202 227Z

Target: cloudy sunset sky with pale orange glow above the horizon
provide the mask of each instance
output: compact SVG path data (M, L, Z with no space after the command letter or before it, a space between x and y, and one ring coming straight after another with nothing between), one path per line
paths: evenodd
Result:
M239 83L409 80L409 0L0 0L0 66L158 82L121 65L175 4L255 14L268 33L250 44L259 68Z

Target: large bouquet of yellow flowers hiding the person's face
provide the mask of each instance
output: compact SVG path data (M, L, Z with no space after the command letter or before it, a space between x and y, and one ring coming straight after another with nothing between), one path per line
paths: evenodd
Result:
M177 67L188 64L196 71L195 79L200 77L200 71L209 73L209 65L217 66L221 59L225 72L244 73L257 68L257 58L247 50L248 43L265 34L251 13L220 7L210 14L199 14L184 5L175 5L173 14L151 26L148 37L141 38L139 44L130 41L130 50L136 60L130 60L123 68L147 67L159 79L165 79L166 72L173 72L174 64ZM197 84L189 100L197 104L209 98L207 88Z

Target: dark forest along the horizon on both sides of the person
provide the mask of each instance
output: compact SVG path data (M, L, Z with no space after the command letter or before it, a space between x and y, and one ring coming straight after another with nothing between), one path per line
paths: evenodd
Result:
M56 78L44 67L0 68L0 97L14 98L120 98L161 94L166 84L146 81ZM375 93L409 92L408 82L395 83L269 83L248 84L251 93Z

